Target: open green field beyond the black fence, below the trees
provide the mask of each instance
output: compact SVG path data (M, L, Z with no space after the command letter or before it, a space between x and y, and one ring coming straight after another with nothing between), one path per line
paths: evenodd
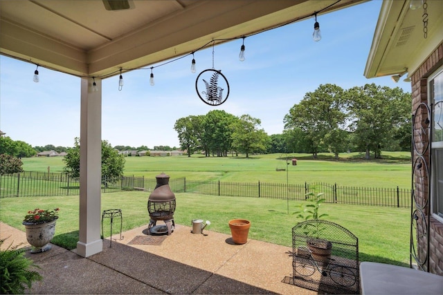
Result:
M165 172L171 178L186 177L189 180L220 180L226 182L280 182L301 184L326 182L350 187L410 188L410 154L383 152L383 160L363 160L361 153L344 153L340 160L332 154L320 153L312 160L309 154L251 155L251 158L204 157L192 155L174 157L127 157L125 175L144 175L155 178ZM283 160L279 160L282 157ZM286 158L297 158L296 166L286 164ZM62 171L62 158L24 158L26 171ZM288 171L276 171L286 169Z

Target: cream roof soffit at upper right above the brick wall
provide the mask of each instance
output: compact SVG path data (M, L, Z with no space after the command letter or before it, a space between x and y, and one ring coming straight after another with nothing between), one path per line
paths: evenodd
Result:
M443 1L427 0L427 36L424 7L410 10L409 0L386 0L381 6L364 75L367 78L417 70L443 40Z

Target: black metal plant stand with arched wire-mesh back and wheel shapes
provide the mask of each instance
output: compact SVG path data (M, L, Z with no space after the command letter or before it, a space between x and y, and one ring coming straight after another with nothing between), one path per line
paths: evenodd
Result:
M334 222L307 220L293 227L292 242L293 277L285 283L327 294L359 294L359 239L350 231Z

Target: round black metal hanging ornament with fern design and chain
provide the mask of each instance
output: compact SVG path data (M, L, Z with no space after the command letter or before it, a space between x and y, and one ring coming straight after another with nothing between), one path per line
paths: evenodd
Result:
M208 68L197 76L195 80L195 90L201 101L210 106L219 106L228 99L228 79L221 73L221 70L215 70L214 68L214 43L213 68Z

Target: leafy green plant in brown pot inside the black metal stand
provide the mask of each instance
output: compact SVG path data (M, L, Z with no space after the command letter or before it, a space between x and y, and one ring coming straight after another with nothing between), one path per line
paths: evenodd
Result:
M307 204L300 204L300 210L295 212L297 217L306 221L319 220L328 216L326 213L319 213L320 205L325 202L324 194L316 193L315 191L306 193ZM308 222L303 227L307 247L311 250L312 256L320 262L327 262L332 252L332 242L321 238L324 230L325 228L319 222Z

